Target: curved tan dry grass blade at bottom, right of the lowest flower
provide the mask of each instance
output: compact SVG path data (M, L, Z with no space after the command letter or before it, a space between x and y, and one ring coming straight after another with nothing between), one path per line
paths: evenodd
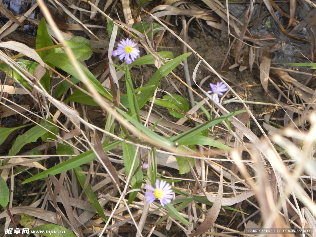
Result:
M216 196L216 199L214 201L214 204L211 207L211 209L209 210L209 212L207 213L207 216L205 217L202 224L200 224L200 226L197 228L197 230L192 234L188 234L190 237L197 236L199 234L204 234L206 231L208 231L210 229L210 227L216 221L217 216L218 216L219 211L221 210L221 206L222 206L222 195L223 195L223 187L224 187L223 179L224 179L223 178L223 171L221 170L221 177L220 177L220 181L219 181L218 192L217 192L217 196Z

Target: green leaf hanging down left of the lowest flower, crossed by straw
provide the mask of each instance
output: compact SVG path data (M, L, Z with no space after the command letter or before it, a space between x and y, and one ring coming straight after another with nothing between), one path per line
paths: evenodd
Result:
M143 184L143 172L142 172L142 169L139 168L140 165L139 165L138 156L136 157L134 166L132 167L132 162L135 156L136 149L132 144L129 144L129 143L122 143L122 149L123 149L123 161L124 161L126 176L132 173L131 189L141 188ZM136 196L137 196L137 192L131 192L128 196L127 204L131 204L136 198Z

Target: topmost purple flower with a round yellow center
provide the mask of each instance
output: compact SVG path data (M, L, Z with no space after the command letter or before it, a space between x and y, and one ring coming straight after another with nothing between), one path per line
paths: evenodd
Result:
M119 56L120 60L124 59L127 64L131 64L139 56L139 52L136 44L132 40L126 39L118 43L118 48L112 52L112 55Z

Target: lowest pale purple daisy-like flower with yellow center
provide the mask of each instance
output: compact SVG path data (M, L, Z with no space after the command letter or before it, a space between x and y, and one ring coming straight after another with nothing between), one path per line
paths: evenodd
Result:
M146 188L153 191L153 192L146 192L145 194L145 200L149 203L152 203L155 201L155 199L158 199L162 206L165 204L168 204L171 202L171 199L173 199L173 191L171 190L171 185L167 184L166 181L156 180L156 188L152 187L151 185L146 185Z

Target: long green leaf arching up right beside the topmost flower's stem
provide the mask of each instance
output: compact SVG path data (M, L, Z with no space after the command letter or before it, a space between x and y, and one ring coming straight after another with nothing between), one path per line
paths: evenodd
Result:
M185 58L189 57L192 53L185 53L180 55L177 58L174 58L170 62L167 62L165 65L163 65L161 68L157 69L155 74L150 78L149 82L147 83L147 86L153 86L150 87L147 90L143 90L138 97L138 108L141 109L149 100L149 98L154 93L155 89L159 85L159 80L161 77L167 76L173 69L176 68L181 62L185 60Z

